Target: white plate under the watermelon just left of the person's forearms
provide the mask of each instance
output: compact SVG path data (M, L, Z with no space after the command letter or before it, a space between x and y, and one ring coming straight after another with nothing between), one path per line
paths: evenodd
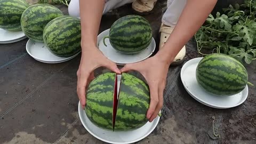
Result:
M26 50L28 54L33 57L35 60L44 62L44 63L60 63L60 62L65 62L70 59L73 59L78 55L80 52L77 54L68 57L68 58L61 58L57 57L56 55L52 54L46 47L44 43L40 42L34 42L31 39L28 39L28 42L26 44Z

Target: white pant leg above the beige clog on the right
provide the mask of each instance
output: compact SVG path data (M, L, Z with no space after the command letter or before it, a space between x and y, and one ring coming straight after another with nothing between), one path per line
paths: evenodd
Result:
M162 18L164 25L175 27L186 3L187 0L168 0L167 10L165 11Z

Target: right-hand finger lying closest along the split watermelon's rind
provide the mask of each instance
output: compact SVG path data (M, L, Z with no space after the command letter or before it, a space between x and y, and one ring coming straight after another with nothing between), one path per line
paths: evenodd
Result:
M158 89L156 84L149 84L149 90L150 90L150 103L149 108L147 111L147 118L150 119L150 117L153 115L156 106L158 104Z

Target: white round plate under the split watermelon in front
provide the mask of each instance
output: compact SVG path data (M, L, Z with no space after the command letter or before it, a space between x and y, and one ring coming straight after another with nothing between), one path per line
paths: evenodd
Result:
M95 126L86 116L85 111L80 105L80 101L78 102L78 115L85 129L91 135L93 135L93 137L104 142L118 144L134 143L146 138L151 132L153 132L160 119L160 117L157 116L153 122L148 122L137 130L126 132L113 132Z

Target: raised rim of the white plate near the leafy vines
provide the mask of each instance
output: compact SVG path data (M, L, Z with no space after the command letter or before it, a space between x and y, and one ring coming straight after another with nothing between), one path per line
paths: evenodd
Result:
M238 103L236 103L236 105L229 105L229 106L220 106L220 105L212 105L211 103L209 103L209 102L206 102L206 101L204 101L204 100L201 100L201 99L199 99L199 98L197 98L197 96L196 95L194 95L194 94L191 94L190 92L189 92L189 90L187 89L187 87L186 87L186 85L185 85L185 80L183 79L183 71L185 71L185 68L187 68L187 65L189 64L189 62L192 62L192 61L196 61L196 60L202 60L203 59L203 57L198 57L198 58L194 58L194 59L190 59L190 60L188 60L183 66L182 66L182 68L181 68L181 70L180 70L180 77L181 77L181 82L182 82L182 85L183 85L183 87L185 88L185 90L188 92L188 94L191 96L191 97L193 97L194 99L196 99L198 102L200 102L200 103L202 103L203 105L205 105L205 106L209 106L209 107L212 107L212 108L219 108L219 109L227 109L227 108L233 108L233 107L237 107L237 106L239 106L239 105L241 105L246 99L247 99L247 97L248 97L248 94L249 94L249 89L248 89L248 85L246 84L246 86L245 86L245 89L243 90L243 91L241 91L241 93L246 93L245 95L244 94L242 94L242 96L241 96L241 100L238 102ZM208 94L210 94L210 93L208 93ZM210 95L213 95L213 94L210 94ZM231 95L230 95L231 96ZM216 96L216 97L218 97L218 96Z

